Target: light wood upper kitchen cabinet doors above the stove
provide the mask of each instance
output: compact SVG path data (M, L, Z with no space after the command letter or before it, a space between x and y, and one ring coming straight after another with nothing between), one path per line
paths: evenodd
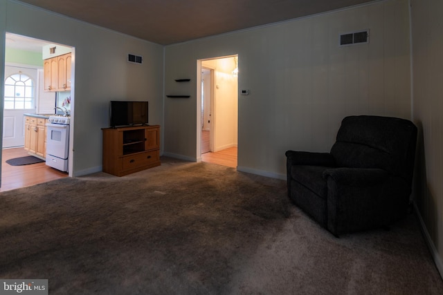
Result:
M71 61L71 53L44 60L43 71L45 91L71 90Z

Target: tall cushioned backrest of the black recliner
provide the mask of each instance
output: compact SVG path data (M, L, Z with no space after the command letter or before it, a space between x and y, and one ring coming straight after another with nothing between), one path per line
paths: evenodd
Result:
M410 183L413 177L417 127L395 117L345 117L331 153L337 166L381 168Z

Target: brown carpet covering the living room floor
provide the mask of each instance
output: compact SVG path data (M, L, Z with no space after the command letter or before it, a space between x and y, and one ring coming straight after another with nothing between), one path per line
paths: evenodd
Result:
M413 215L334 238L286 182L163 158L0 193L0 278L50 294L443 294Z

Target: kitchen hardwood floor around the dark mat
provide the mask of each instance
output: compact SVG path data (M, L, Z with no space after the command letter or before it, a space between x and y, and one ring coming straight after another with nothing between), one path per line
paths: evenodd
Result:
M29 187L34 184L48 182L68 177L68 173L58 171L44 162L24 166L11 166L6 160L28 155L24 148L3 149L1 159L1 187L0 191L10 191L20 187Z

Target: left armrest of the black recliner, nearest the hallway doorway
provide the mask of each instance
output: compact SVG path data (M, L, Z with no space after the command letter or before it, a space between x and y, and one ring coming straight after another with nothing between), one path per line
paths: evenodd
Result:
M287 165L335 166L335 160L330 153L311 153L308 151L287 151Z

